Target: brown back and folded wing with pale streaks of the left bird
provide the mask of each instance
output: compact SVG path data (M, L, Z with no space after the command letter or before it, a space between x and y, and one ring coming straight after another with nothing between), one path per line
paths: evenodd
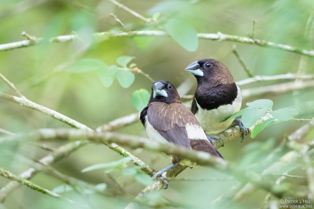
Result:
M193 113L182 103L152 102L147 110L147 119L168 142L187 148L191 145L186 124L200 126Z

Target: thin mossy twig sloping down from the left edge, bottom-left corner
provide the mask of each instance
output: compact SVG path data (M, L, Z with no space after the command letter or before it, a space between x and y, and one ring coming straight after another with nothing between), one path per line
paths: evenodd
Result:
M36 185L36 184L34 184L33 182L31 182L29 180L26 180L24 178L16 176L16 175L10 173L10 171L4 170L3 168L0 168L0 175L3 176L4 178L17 181L17 182L21 183L22 185L30 187L33 190L39 191L39 192L41 192L43 194L46 194L46 195L49 195L51 197L54 197L54 198L57 198L57 199L60 199L60 200L65 200L65 201L68 201L70 203L75 203L74 201L69 200L69 199L67 199L65 197L62 197L61 195L59 195L59 194L57 194L57 193L55 193L53 191L47 190L45 188L42 188L41 186ZM75 203L75 204L77 204L77 203Z

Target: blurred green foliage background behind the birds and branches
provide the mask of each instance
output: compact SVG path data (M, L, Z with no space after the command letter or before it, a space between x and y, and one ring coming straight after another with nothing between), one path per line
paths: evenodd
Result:
M129 88L122 88L117 80L114 80L113 84L107 88L102 85L95 71L72 74L64 70L59 71L59 65L69 60L82 58L99 59L107 65L114 65L116 59L122 55L135 56L136 59L132 62L154 80L168 80L175 86L180 86L183 81L186 81L187 85L191 86L187 94L193 94L196 80L183 70L198 59L214 58L221 61L229 68L235 81L248 78L232 53L233 44L236 44L237 52L255 75L296 73L301 55L257 45L211 40L199 40L198 49L195 52L188 52L173 39L166 37L116 38L96 42L91 36L94 32L163 30L163 24L168 19L176 18L191 25L198 33L221 32L247 37L247 34L252 34L252 21L256 19L255 38L306 50L313 49L310 41L312 34L305 36L308 18L314 9L314 3L311 0L120 0L120 2L146 18L151 18L154 13L159 12L159 22L147 23L106 0L2 0L0 3L0 44L25 39L21 36L22 31L36 37L76 33L80 34L82 39L77 42L40 44L2 51L0 52L1 73L31 101L56 110L90 128L97 128L101 124L137 112L132 105L131 94L140 88L150 92L151 81L135 73L135 81ZM110 16L111 13L114 13L125 24L126 29ZM311 23L308 25L311 27ZM309 57L302 72L314 73L313 64L314 58ZM242 88L250 89L278 82L259 82ZM0 89L12 94L3 82L0 82ZM246 102L256 99L273 100L273 109L296 107L297 103L297 108L306 112L302 117L311 118L313 117L311 115L313 114L313 92L313 89L307 88L298 92L258 95L243 101L242 107L246 107ZM261 162L285 136L305 123L288 121L273 125L262 131L256 138L246 136L243 143L237 139L220 148L219 152L226 160L241 165ZM37 128L60 127L67 128L67 125L40 112L20 107L12 102L0 101L0 128L21 133ZM140 122L119 131L146 136ZM311 131L306 135L306 139L312 140L313 136L314 132ZM254 143L258 143L257 146L252 145ZM57 147L63 142L48 144ZM141 149L131 151L156 170L170 163L170 160L162 154ZM3 144L0 145L0 167L19 174L34 164L33 159L39 159L48 153L30 144ZM90 203L95 208L123 208L129 202L127 198L136 196L144 185L139 184L132 177L121 176L120 170L111 172L111 176L105 174L104 169L81 173L81 170L89 165L118 159L121 159L121 156L108 147L102 144L88 144L68 158L53 164L52 166L60 172L75 178L92 184L106 183L106 191L111 196L104 197L95 194L82 198L74 191L62 193L62 195L85 204ZM128 166L133 165L129 163ZM304 170L296 171L296 174L304 175ZM228 177L207 167L187 169L178 177L217 178L224 176ZM49 190L64 184L45 173L39 173L32 181ZM8 182L9 180L0 178L0 187ZM208 208L211 201L236 183L236 180L171 181L167 190L160 191L152 198L155 198L157 202L173 201L184 204L181 207ZM255 208L265 195L265 191L259 190L238 201L233 201L229 207ZM3 205L6 208L76 207L23 186L8 196Z

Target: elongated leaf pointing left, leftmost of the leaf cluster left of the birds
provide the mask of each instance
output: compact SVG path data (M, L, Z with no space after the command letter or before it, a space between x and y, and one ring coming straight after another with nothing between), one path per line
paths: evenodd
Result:
M93 59L93 58L85 58L76 61L73 65L66 69L66 72L70 73L84 73L89 71L99 70L101 67L108 67L103 61Z

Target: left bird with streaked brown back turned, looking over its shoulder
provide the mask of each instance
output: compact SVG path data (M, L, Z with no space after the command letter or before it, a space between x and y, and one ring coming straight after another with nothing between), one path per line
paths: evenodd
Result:
M169 81L155 81L146 107L140 113L140 120L146 129L148 138L152 141L188 149L204 151L217 157L222 157L214 145L208 140L194 114L181 103L176 87ZM191 161L172 156L172 164L158 171L153 179L160 178L166 188L168 182L162 174L181 164L189 167L197 166Z

